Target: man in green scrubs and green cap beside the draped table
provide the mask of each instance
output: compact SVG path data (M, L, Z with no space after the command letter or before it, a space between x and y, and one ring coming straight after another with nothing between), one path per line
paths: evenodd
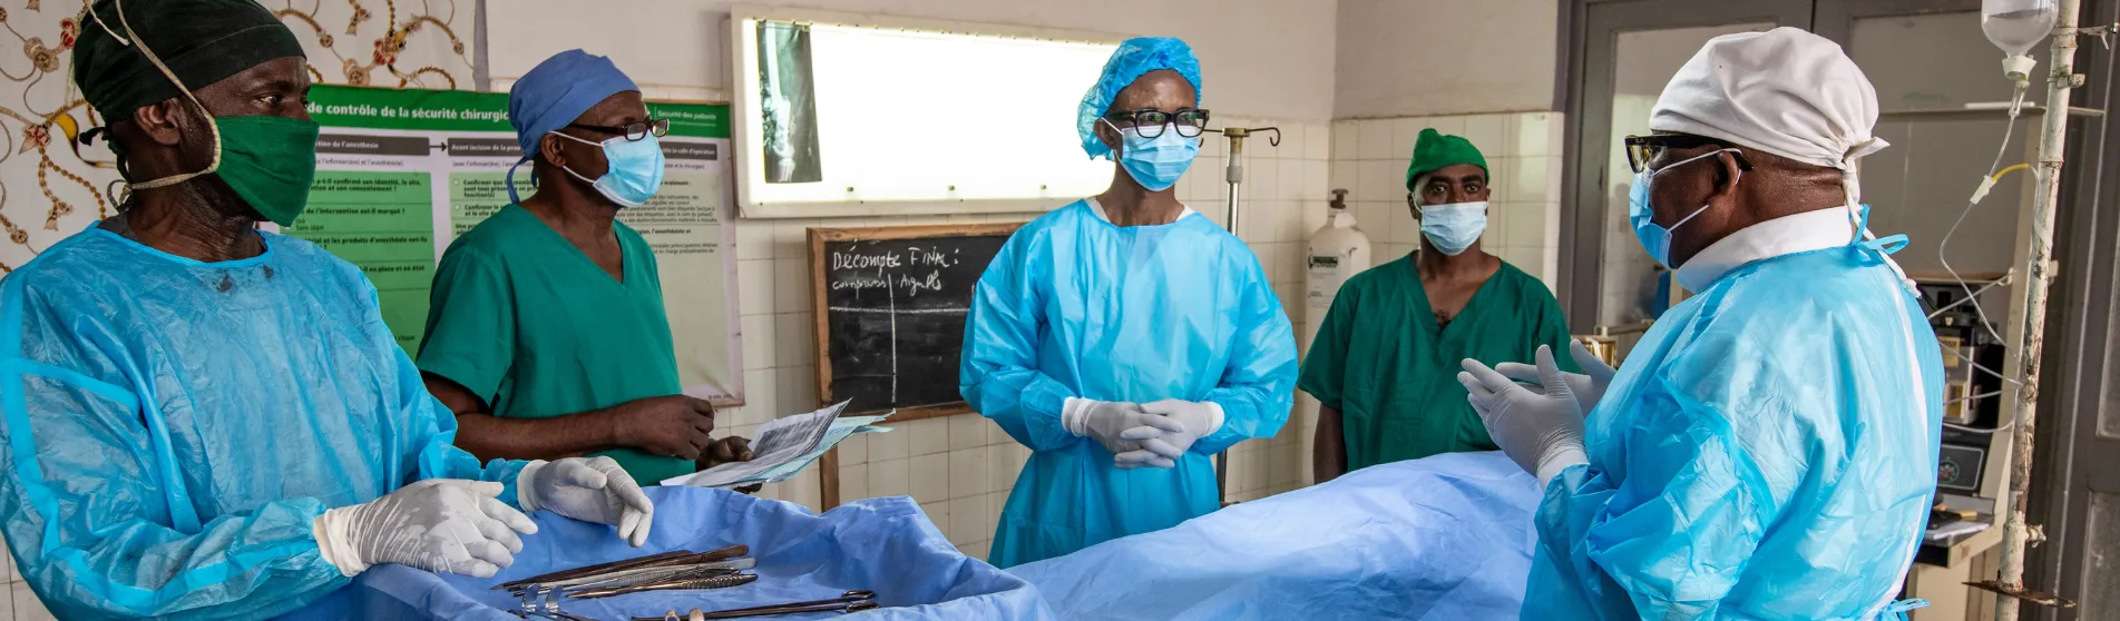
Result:
M1560 303L1543 282L1480 248L1486 157L1469 140L1423 129L1406 170L1420 250L1348 278L1310 341L1295 388L1321 403L1312 471L1452 451L1492 451L1465 401L1459 365L1531 362L1567 348ZM1573 360L1560 360L1577 371Z

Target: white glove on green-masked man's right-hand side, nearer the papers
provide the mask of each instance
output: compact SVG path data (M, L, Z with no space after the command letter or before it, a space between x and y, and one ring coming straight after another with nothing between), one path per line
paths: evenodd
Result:
M524 513L551 509L581 521L611 524L619 538L640 547L655 524L655 502L613 458L566 458L530 462L515 479L515 500Z

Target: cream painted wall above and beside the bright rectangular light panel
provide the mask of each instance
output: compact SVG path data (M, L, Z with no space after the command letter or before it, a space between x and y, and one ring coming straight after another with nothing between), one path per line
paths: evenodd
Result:
M611 55L649 95L727 100L727 0L488 2L494 87L566 49ZM1126 36L1177 36L1204 66L1215 112L1327 121L1333 100L1331 0L812 0L753 2L1013 23ZM1083 85L1088 89L1088 85Z

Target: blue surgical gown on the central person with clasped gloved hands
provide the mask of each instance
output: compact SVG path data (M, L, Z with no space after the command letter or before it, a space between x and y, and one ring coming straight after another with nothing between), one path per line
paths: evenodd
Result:
M1077 201L986 267L958 377L971 409L1032 449L988 553L1007 568L1215 511L1208 456L1289 420L1295 337L1259 259L1208 218L1115 227ZM1060 426L1068 396L1211 401L1225 420L1177 468L1121 471Z

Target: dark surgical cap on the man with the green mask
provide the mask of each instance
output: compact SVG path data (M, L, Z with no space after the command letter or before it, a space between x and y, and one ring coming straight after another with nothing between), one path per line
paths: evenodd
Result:
M98 0L91 11L95 15L81 19L74 42L74 85L104 123L182 95L138 45L153 49L191 89L269 59L303 57L295 32L254 0ZM131 38L125 23L140 36L138 45L123 42Z

